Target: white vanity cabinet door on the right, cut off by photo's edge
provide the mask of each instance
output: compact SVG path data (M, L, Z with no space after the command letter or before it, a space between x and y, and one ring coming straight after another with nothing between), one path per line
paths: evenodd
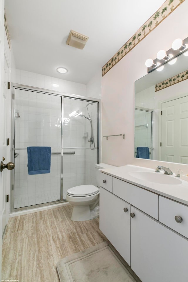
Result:
M188 241L134 207L131 268L143 282L188 281Z

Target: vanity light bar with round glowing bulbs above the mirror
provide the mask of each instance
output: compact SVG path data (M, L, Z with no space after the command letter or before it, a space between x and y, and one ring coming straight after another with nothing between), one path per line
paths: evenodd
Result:
M147 66L147 72L150 73L153 70L161 71L164 68L165 63L169 65L174 64L177 61L177 56L184 54L188 56L188 37L183 41L180 38L177 38L172 43L172 48L168 51L160 50L157 53L157 58L155 60L147 59L145 65ZM163 66L163 67L162 67Z

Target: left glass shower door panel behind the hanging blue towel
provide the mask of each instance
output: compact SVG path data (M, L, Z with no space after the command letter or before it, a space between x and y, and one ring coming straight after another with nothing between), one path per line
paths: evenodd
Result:
M14 209L61 200L62 97L15 89ZM28 174L27 147L49 146L51 171Z

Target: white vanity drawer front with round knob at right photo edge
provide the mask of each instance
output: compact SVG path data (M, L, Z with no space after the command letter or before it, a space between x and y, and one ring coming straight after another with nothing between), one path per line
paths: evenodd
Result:
M178 223L175 216L180 216ZM179 218L178 218L179 219ZM177 220L178 220L177 219ZM188 238L188 207L172 200L159 197L159 221Z

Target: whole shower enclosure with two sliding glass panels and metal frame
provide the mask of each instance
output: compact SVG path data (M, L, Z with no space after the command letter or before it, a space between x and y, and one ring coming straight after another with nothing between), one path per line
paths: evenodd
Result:
M99 100L14 87L12 211L59 203L93 184L99 162ZM51 170L28 174L27 147L51 147Z

